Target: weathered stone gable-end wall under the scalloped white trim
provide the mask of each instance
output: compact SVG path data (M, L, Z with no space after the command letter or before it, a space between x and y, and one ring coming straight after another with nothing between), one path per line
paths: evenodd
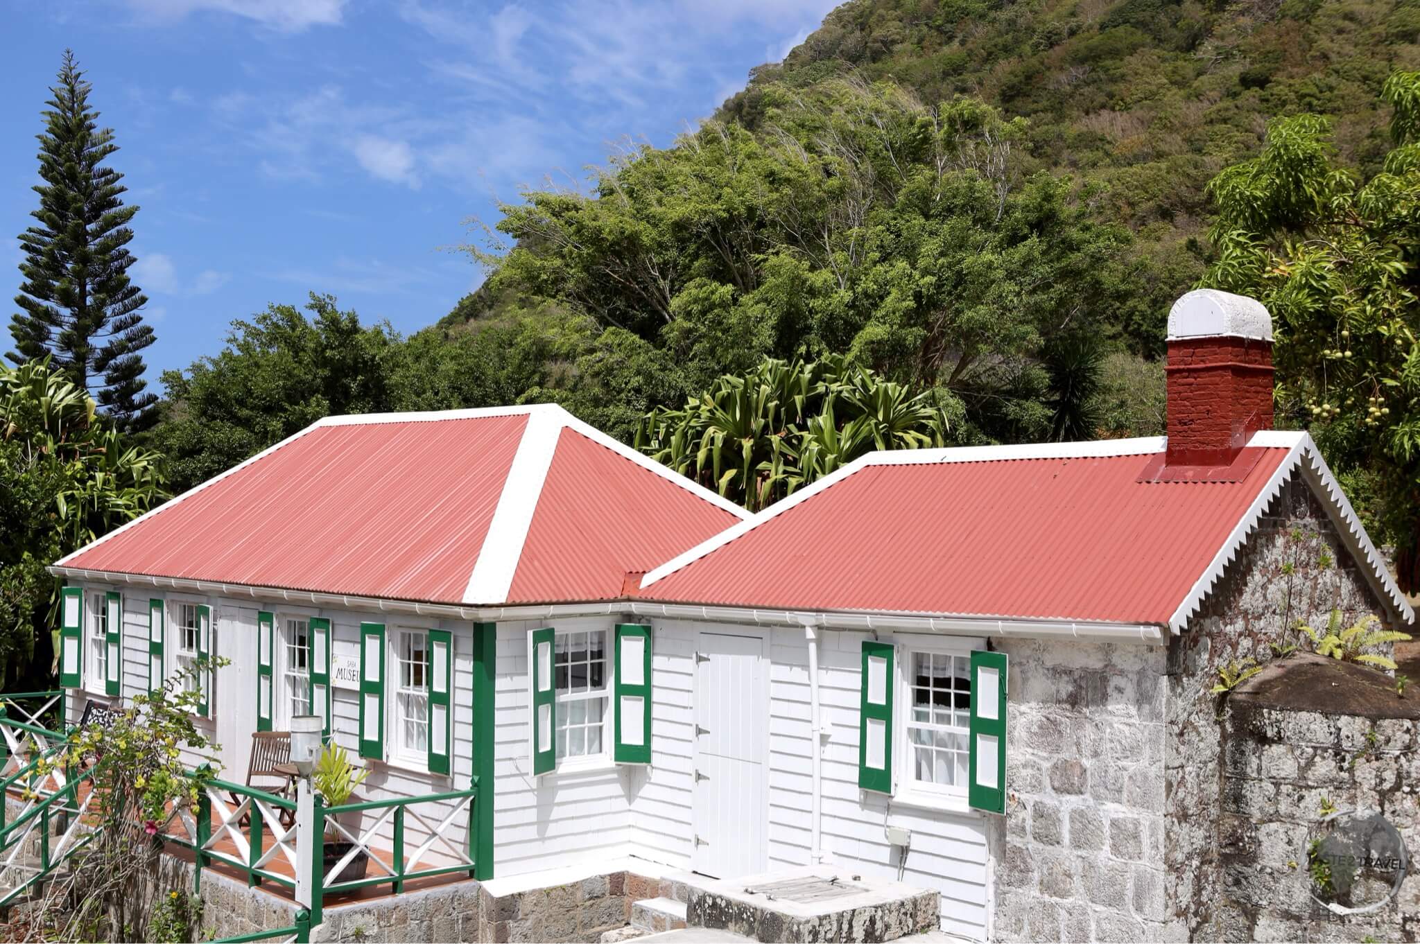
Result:
M1174 487L1174 485L1162 485ZM1207 485L1177 485L1207 488ZM1237 559L1189 627L1170 640L1164 874L1169 940L1230 940L1238 916L1211 907L1223 897L1220 823L1221 708L1210 688L1218 666L1274 659L1271 643L1306 643L1292 626L1325 627L1332 609L1350 625L1384 615L1325 508L1294 478L1271 503Z

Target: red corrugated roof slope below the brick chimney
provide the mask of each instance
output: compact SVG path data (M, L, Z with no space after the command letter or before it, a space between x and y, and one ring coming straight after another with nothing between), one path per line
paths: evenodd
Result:
M1240 481L1137 481L1157 451L920 464L897 454L648 575L642 595L1167 623L1289 450L1260 449Z

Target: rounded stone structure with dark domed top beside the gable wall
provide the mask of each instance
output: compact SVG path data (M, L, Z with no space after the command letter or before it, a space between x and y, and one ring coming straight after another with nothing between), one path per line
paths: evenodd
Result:
M1379 812L1411 856L1420 850L1420 703L1397 698L1389 676L1311 662L1294 657L1228 698L1223 896L1210 907L1210 924L1231 940L1417 940L1420 876L1406 877L1379 911L1338 917L1311 896L1306 852L1319 835L1323 802ZM1301 700L1343 701L1363 714L1279 706L1277 696L1288 687L1301 688L1294 693Z

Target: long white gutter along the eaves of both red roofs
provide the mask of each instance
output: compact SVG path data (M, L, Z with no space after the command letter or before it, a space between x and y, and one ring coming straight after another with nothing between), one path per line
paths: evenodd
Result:
M602 600L586 603L508 603L504 606L460 606L457 603L420 603L389 600L378 596L348 593L314 593L246 583L222 583L186 578L149 576L145 573L115 573L84 568L53 565L54 576L97 583L128 583L170 588L196 593L248 598L253 600L301 602L311 606L339 606L376 613L412 613L440 616L467 622L503 622L520 619L557 619L564 616L660 616L665 619L696 619L710 623L750 623L754 626L821 626L824 629L852 629L859 632L916 632L949 636L998 637L1072 637L1092 642L1163 643L1163 632L1154 623L1095 623L1068 619L1001 619L995 616L922 616L916 613L853 613L834 610L782 610L750 606L697 606L693 603L659 603L655 600Z

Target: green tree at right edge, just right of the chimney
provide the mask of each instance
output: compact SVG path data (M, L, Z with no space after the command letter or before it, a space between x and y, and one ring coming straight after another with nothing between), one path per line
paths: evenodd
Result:
M1392 149L1363 180L1331 122L1279 118L1210 185L1218 260L1204 284L1272 312L1279 426L1311 429L1353 505L1420 588L1420 72L1396 72Z

